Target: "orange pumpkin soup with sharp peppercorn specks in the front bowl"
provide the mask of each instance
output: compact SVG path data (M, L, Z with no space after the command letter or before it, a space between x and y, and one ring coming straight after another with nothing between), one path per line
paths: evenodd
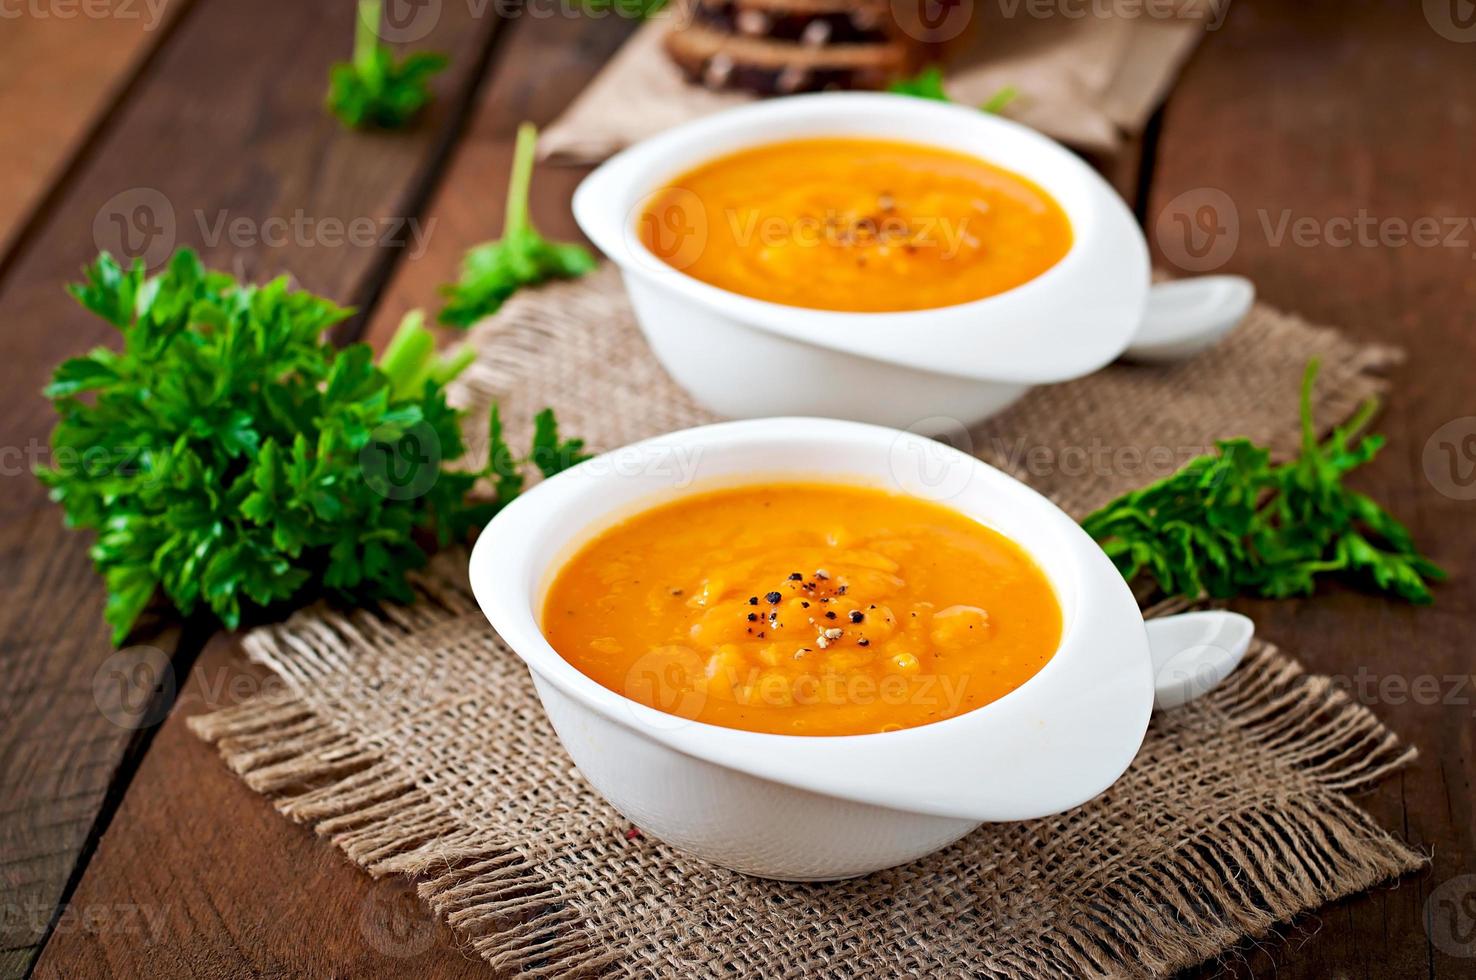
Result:
M543 633L598 683L725 728L859 735L971 711L1061 639L1045 574L936 503L835 484L683 497L583 546Z

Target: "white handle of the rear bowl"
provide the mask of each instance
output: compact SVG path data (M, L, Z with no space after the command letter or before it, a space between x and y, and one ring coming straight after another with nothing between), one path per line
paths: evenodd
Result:
M1250 313L1256 286L1244 276L1157 282L1123 357L1147 363L1193 357Z

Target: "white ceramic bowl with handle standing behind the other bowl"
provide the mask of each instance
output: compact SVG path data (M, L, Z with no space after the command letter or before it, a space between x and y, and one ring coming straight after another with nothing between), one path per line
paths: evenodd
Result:
M648 196L692 167L797 137L869 136L973 153L1024 174L1066 210L1070 251L995 297L906 313L766 303L694 279L641 242ZM1030 385L1103 368L1134 342L1145 357L1212 344L1249 310L1250 283L1185 280L1150 307L1148 248L1117 193L1066 148L968 106L877 93L772 99L677 125L615 155L574 193L574 218L624 275L646 339L708 409L734 418L825 415L918 431L971 425ZM675 248L701 248L706 229ZM1194 289L1185 295L1185 289Z

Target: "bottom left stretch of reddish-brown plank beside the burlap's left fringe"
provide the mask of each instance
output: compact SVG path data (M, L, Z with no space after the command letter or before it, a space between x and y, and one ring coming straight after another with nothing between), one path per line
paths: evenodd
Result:
M403 878L351 868L184 728L263 683L226 636L201 654L35 976L486 976Z

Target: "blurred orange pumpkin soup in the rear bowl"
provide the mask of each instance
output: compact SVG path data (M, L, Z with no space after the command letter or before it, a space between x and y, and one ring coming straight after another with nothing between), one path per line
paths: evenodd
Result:
M641 242L695 279L816 310L927 310L1035 279L1072 246L1051 195L917 143L807 139L722 156L651 195Z

